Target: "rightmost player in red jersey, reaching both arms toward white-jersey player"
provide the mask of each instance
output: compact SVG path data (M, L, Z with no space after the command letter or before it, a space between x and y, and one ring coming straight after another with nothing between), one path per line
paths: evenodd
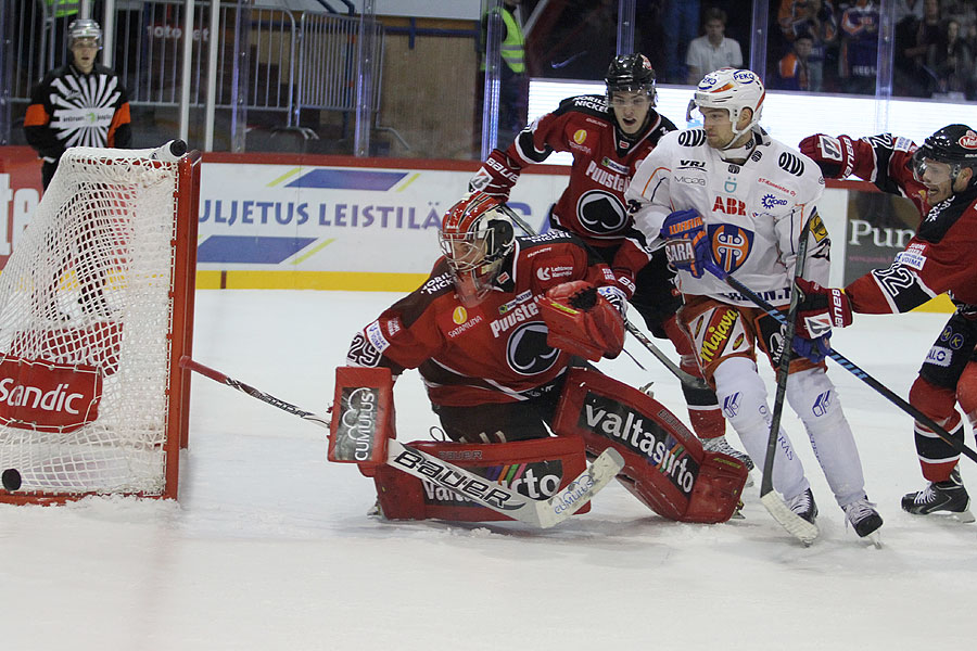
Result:
M910 390L910 403L963 441L957 400L970 424L977 424L977 265L973 257L977 250L977 132L966 125L948 125L918 148L888 133L860 140L819 133L802 140L800 149L826 177L853 174L883 192L908 197L923 222L891 266L866 273L843 293L799 282L805 297L798 310L798 333L809 340L825 332L829 335L833 324L849 324L853 311L904 312L948 293L956 311L929 349ZM930 483L905 495L902 508L915 514L942 511L973 520L957 468L960 455L919 422L915 443L923 476Z

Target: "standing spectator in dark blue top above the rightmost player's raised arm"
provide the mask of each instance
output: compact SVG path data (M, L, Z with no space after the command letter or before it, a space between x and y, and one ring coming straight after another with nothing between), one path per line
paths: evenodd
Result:
M878 5L858 0L841 14L838 75L845 92L875 94L878 60Z

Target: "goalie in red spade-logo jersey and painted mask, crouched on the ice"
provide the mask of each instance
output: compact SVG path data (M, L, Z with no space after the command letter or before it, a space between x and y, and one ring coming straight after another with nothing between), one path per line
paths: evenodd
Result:
M453 442L436 444L435 454L508 454L512 464L582 437L593 454L621 451L622 481L660 514L695 522L732 515L745 465L705 452L650 396L572 368L587 366L581 358L617 357L624 341L624 295L593 251L564 231L516 237L500 202L482 192L447 212L440 241L443 255L428 280L357 333L346 360L389 368L394 379L418 369ZM422 492L390 483L399 478L377 478L384 514L430 513L416 506Z

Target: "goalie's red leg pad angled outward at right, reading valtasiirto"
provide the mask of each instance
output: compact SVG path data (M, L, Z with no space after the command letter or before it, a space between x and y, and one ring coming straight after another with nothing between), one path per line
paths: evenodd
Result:
M599 372L570 371L554 431L582 436L595 455L621 452L622 484L663 518L725 522L739 503L748 474L741 462L705 452L664 406Z

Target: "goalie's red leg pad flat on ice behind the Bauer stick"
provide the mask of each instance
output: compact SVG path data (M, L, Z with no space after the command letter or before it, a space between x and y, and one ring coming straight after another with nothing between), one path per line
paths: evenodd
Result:
M482 475L490 485L504 484L533 499L554 495L586 468L584 443L579 436L496 444L426 441L409 445ZM511 520L390 465L378 467L373 482L380 509L388 520ZM589 508L587 503L579 513L586 513Z

